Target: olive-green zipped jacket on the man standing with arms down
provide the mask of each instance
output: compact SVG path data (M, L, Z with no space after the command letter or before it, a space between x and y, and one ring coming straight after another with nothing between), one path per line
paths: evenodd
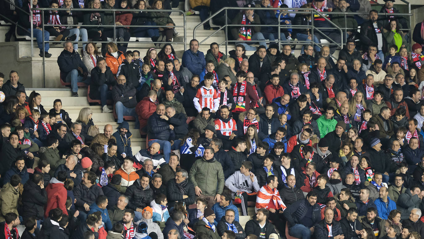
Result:
M222 165L215 157L212 162L207 162L204 158L193 163L188 176L194 187L198 186L202 194L215 196L221 194L224 188L224 172Z

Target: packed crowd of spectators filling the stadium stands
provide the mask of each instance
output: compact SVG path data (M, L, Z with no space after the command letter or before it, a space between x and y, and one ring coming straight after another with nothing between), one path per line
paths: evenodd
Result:
M192 0L190 13L200 11L206 19L220 2L225 1ZM38 6L37 0L14 3L28 12L31 4ZM143 10L177 3L39 4ZM245 5L252 9L232 14L230 21L243 26L229 31L240 41L229 56L217 43L204 54L206 49L192 39L181 59L171 43L177 33L166 12L151 12L156 18L126 13L115 20L98 12L51 12L50 24L81 18L95 26L39 29L39 11L33 11L40 56L50 55L48 43L41 50L42 31L47 39L49 34L63 38L57 59L61 79L71 82L73 96L78 96L78 82L89 84L89 97L100 100L103 113L111 113L108 105L114 105L119 126L106 124L100 133L89 107L73 121L61 99L47 112L39 93L27 96L17 71L5 83L0 73L6 96L0 107L0 238L424 237L424 21L413 32L400 31L407 22L390 16L398 12L390 0L381 11L351 0L262 0L257 6L369 14L348 19L351 31L335 61L336 48L326 45L305 44L300 56L293 55L290 44L282 52L275 43L267 46L265 39L279 36L273 27L255 25L274 24L276 13L258 11L253 3ZM13 15L15 9L10 10ZM343 14L325 16L345 27ZM25 15L16 17L31 26ZM283 14L280 20L311 24L305 14ZM319 16L312 20L326 27ZM215 21L223 22L222 16ZM95 42L113 35L101 25L130 23L169 28L117 28L118 42L147 34L166 43L160 50L148 49L144 58L121 43L98 50ZM287 42L324 38L306 29L282 29L280 38ZM93 41L83 45L82 57L80 37ZM412 51L407 51L409 37L416 42ZM259 47L252 46L256 42ZM251 49L256 51L246 56ZM136 119L131 127L126 116ZM146 137L147 149L132 152L130 128ZM251 216L244 228L242 216ZM25 231L19 235L21 222Z

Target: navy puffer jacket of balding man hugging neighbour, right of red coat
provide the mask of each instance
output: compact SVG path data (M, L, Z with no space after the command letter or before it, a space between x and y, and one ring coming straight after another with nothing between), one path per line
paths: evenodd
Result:
M147 134L150 139L159 139L168 141L171 137L171 129L169 123L165 119L161 119L156 112L149 117L147 121Z

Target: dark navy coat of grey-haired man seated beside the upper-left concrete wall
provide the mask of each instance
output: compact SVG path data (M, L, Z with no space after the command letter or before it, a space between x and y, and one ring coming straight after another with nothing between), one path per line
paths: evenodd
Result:
M61 79L66 79L68 73L71 70L78 70L78 67L81 67L84 73L88 73L87 67L81 61L81 56L75 50L73 52L63 50L57 58L57 64L59 65Z

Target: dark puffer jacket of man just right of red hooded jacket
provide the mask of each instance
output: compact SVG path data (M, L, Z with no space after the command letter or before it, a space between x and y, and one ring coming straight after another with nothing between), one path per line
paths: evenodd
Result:
M102 188L93 184L90 188L87 188L84 184L78 184L74 188L74 195L77 200L75 203L75 209L79 211L85 211L84 203L91 205L96 202L98 196L103 195Z

